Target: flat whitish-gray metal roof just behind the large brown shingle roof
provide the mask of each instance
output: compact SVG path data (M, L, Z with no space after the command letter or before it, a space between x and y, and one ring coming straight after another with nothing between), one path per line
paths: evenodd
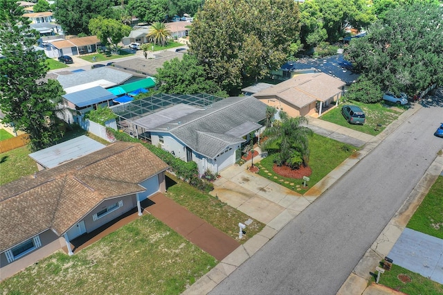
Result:
M29 154L34 161L44 168L54 168L63 163L78 159L80 157L101 150L106 145L94 141L86 135L78 136L69 141L47 147L44 150Z

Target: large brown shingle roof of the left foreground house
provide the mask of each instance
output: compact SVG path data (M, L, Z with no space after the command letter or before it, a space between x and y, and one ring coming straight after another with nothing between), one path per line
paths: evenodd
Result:
M140 143L113 143L0 187L0 252L53 229L59 235L104 199L143 191L168 165Z

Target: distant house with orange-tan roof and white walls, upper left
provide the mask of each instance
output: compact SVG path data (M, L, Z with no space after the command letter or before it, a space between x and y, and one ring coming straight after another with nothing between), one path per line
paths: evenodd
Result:
M46 55L59 57L62 55L82 55L97 52L100 40L97 36L75 37L60 41L52 41L46 44L48 47Z

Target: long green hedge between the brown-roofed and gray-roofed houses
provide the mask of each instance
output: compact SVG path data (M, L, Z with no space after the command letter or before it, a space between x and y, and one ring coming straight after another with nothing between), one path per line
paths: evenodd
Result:
M143 143L140 139L132 137L125 132L118 132L112 128L107 128L107 132L114 134L117 141L142 143L148 150L167 163L177 177L187 181L191 186L195 186L204 192L210 192L214 189L213 184L199 178L199 168L194 161L185 162L174 157L170 152L162 150L160 147L156 147L149 143Z

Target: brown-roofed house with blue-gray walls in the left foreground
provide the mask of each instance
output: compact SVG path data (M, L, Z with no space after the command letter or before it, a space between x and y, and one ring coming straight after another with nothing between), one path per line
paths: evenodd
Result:
M161 159L116 142L0 187L0 280L165 192ZM135 210L134 210L135 211ZM135 211L135 212L136 212ZM75 250L75 249L74 249Z

